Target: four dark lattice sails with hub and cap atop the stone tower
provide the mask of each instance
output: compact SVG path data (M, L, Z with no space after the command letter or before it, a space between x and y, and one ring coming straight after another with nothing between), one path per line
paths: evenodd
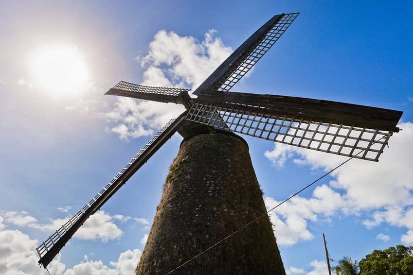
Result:
M378 161L389 138L399 131L396 124L402 115L400 111L229 91L297 16L298 13L272 17L193 92L197 98L191 98L188 89L141 86L124 81L111 88L106 94L177 103L184 105L186 110L170 120L86 206L37 248L38 262L46 268L90 215L100 209L177 131L184 140L203 134L235 136L233 133L238 133Z

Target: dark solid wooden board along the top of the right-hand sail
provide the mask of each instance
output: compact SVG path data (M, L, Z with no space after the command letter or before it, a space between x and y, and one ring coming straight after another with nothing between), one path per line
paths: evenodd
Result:
M197 102L269 115L286 115L304 120L393 132L399 131L396 125L403 114L401 111L335 101L213 90L204 91Z

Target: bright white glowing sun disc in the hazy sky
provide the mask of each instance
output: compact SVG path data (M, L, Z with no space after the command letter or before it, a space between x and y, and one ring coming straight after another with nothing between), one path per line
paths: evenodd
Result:
M71 97L87 85L86 64L73 45L51 45L39 49L31 61L33 81L53 97Z

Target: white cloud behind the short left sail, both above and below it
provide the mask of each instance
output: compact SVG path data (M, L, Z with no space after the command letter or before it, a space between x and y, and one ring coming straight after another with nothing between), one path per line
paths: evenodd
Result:
M182 37L174 32L159 31L149 44L148 54L137 58L146 69L142 85L199 86L232 52L214 35L215 31L210 30L204 40L198 42L191 36ZM161 129L183 110L183 106L172 103L119 98L103 117L115 123L107 130L127 141L153 135L154 129Z

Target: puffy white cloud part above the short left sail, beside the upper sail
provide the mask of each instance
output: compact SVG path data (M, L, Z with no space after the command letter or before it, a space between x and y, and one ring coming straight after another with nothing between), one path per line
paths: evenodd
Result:
M143 85L198 87L233 52L215 34L209 30L199 43L192 36L159 31L149 44L148 54L140 58L147 68Z

